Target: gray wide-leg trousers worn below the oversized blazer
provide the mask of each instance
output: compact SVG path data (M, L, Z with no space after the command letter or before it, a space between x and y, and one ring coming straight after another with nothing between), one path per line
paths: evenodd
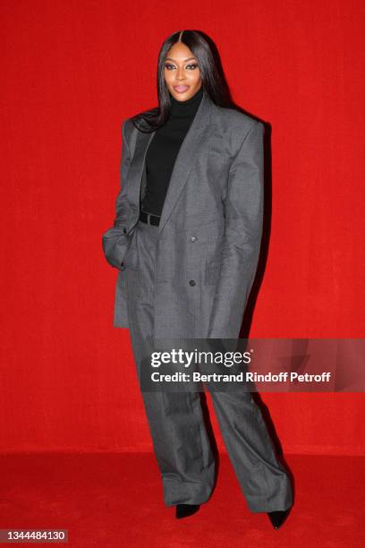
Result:
M158 227L139 221L125 254L123 283L132 350L140 377L152 351L154 261ZM259 406L250 392L210 392L225 447L252 512L284 510L293 504L292 485L277 460ZM199 392L147 392L142 397L162 476L166 506L208 501L215 458Z

